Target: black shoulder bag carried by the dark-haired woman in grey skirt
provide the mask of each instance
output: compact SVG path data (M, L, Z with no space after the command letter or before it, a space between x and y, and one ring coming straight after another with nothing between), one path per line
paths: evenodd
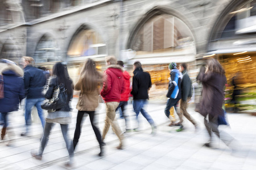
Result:
M65 107L68 103L68 94L67 90L64 87L64 84L57 87L53 90L52 98L46 100L41 105L42 109L47 110L48 112L55 112L58 109Z

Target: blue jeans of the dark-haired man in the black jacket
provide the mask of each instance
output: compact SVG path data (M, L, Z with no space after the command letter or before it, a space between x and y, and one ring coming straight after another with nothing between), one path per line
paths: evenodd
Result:
M136 113L138 124L139 124L138 115L139 115L139 112L141 112L142 116L146 118L148 123L150 123L152 127L155 127L154 120L152 120L151 116L143 109L144 104L147 104L146 99L133 100L133 109L134 109L134 112Z

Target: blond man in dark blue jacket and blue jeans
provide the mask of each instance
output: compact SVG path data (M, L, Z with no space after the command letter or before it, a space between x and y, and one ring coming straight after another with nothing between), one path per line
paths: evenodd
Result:
M34 66L35 61L32 57L22 57L22 65L24 68L24 85L26 90L26 104L25 104L25 121L26 121L26 133L22 133L22 136L28 134L28 128L31 125L31 109L35 106L38 109L38 116L41 120L44 128L44 114L41 105L44 100L42 95L43 87L46 84L46 76L44 76L43 70Z

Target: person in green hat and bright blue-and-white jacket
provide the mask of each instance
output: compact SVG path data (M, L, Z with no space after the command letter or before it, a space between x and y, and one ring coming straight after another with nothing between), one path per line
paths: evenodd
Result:
M178 101L181 99L181 79L182 74L177 69L177 64L175 62L170 63L168 66L170 72L170 82L168 86L168 92L166 97L168 98L166 109L164 109L164 113L169 118L170 116L170 108L174 107L175 111L177 113L176 105ZM174 121L171 121L171 124L169 126L175 125Z

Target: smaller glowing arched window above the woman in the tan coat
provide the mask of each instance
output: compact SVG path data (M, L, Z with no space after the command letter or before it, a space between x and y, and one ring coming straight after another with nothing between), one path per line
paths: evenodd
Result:
M98 32L93 29L80 31L68 50L69 57L105 55L106 44Z

